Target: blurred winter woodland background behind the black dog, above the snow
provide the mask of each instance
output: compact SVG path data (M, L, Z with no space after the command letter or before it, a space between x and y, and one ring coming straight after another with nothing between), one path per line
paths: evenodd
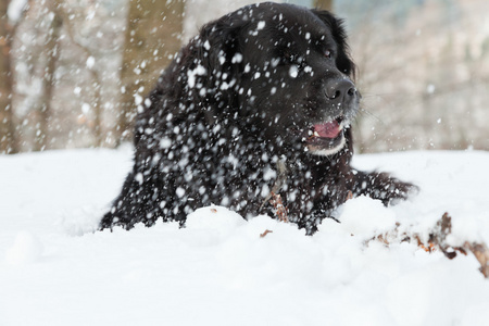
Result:
M356 151L489 150L487 0L288 1L344 17ZM1 0L0 153L117 147L206 21L251 1Z

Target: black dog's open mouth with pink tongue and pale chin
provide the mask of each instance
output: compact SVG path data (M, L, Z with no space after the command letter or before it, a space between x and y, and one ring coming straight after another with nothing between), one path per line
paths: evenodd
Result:
M348 123L342 116L317 123L308 128L303 139L308 149L318 155L330 155L344 146L344 128Z

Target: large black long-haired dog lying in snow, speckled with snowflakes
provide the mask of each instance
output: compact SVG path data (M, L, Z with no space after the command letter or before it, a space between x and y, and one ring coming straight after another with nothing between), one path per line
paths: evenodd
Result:
M262 3L203 26L138 108L134 170L100 228L184 225L213 203L313 234L351 195L405 199L415 186L350 166L353 75L327 11Z

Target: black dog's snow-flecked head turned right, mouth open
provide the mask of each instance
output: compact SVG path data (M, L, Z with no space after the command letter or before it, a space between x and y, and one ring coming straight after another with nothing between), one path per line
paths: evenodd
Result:
M202 93L228 118L288 150L330 155L344 146L360 93L344 29L329 12L249 5L208 24L193 42L201 61L192 77L205 72Z

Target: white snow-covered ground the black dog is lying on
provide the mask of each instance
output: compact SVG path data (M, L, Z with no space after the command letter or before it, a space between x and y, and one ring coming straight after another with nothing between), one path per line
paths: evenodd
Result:
M360 155L421 186L397 206L356 198L313 237L202 208L187 228L96 231L130 148L0 156L0 325L489 325L476 259L368 241L400 223L489 242L489 153ZM261 238L266 229L273 233Z

